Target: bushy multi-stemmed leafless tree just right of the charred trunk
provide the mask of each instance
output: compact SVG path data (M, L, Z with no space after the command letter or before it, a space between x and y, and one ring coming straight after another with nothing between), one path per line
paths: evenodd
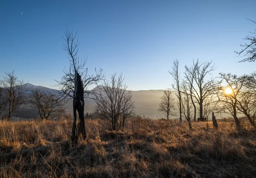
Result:
M118 130L120 122L122 126L128 115L134 110L132 93L127 90L122 74L114 73L110 79L105 79L95 94L96 113L107 121L112 130Z

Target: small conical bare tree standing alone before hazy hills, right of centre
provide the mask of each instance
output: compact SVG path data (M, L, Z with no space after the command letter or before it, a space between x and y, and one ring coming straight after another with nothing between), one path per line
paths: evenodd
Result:
M166 113L167 119L169 119L169 115L175 116L175 100L172 97L172 90L170 88L163 90L158 110Z

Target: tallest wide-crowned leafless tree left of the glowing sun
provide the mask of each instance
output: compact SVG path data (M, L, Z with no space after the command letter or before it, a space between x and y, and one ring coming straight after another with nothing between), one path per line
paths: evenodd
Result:
M189 68L188 68L189 69ZM193 76L193 83L191 85L193 92L191 92L193 98L199 104L199 121L203 121L203 103L204 100L212 95L215 88L215 80L209 79L207 77L211 76L211 72L216 69L212 62L199 62L198 59L193 61L193 65L190 67L189 73L195 72Z

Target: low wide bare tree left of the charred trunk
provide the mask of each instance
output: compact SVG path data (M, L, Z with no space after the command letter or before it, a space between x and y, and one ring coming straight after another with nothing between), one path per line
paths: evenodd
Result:
M32 91L30 103L38 110L41 119L58 118L64 113L62 100L54 94L40 90Z

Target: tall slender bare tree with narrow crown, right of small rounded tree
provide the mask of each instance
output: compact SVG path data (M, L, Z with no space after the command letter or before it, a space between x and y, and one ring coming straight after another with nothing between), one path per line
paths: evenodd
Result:
M179 112L180 112L180 121L182 121L182 114L181 114L181 90L180 90L180 72L179 72L179 61L176 59L173 61L172 70L169 71L169 73L173 77L174 84L172 85L172 88L174 90L177 90L178 93L175 93L175 95L178 98L178 104L179 104Z

